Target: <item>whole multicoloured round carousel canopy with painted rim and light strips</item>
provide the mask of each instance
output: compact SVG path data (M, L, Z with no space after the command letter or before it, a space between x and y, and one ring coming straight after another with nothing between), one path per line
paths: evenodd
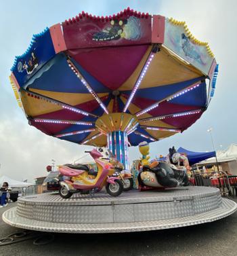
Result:
M183 132L207 109L218 65L185 22L134 12L79 16L33 36L10 80L28 122L45 134L104 146Z

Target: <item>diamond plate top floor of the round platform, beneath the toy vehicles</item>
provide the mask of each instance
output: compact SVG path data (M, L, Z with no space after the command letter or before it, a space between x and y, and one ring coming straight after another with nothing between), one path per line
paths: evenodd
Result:
M18 199L18 202L24 202L26 204L37 205L110 205L125 204L131 202L165 202L177 200L188 200L193 198L202 198L207 196L214 196L219 194L219 189L215 187L177 187L175 189L165 189L159 191L142 191L137 190L127 191L121 196L111 197L106 192L101 191L90 198L88 194L73 194L71 198L64 199L59 196L57 192L46 193L33 196L25 196Z

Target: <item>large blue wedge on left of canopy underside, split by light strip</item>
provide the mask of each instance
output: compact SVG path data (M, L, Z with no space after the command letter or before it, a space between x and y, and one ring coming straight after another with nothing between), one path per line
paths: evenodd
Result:
M76 64L75 64L76 65ZM100 84L80 65L77 68L85 75L85 79L97 93L110 90ZM88 93L87 88L68 66L65 54L57 54L26 86L51 92Z

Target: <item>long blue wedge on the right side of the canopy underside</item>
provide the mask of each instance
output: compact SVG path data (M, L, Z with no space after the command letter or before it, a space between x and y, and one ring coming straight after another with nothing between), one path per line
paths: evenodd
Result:
M188 81L182 81L177 84L138 89L135 96L141 97L141 98L148 98L150 100L160 101L160 100L163 100L164 98L167 98L167 96L175 94L179 90L182 90L187 88L188 86L191 86L192 84L196 83L197 81L200 81L201 79L203 79L203 77L197 77L194 79L190 79ZM122 93L130 95L131 90L122 91Z

